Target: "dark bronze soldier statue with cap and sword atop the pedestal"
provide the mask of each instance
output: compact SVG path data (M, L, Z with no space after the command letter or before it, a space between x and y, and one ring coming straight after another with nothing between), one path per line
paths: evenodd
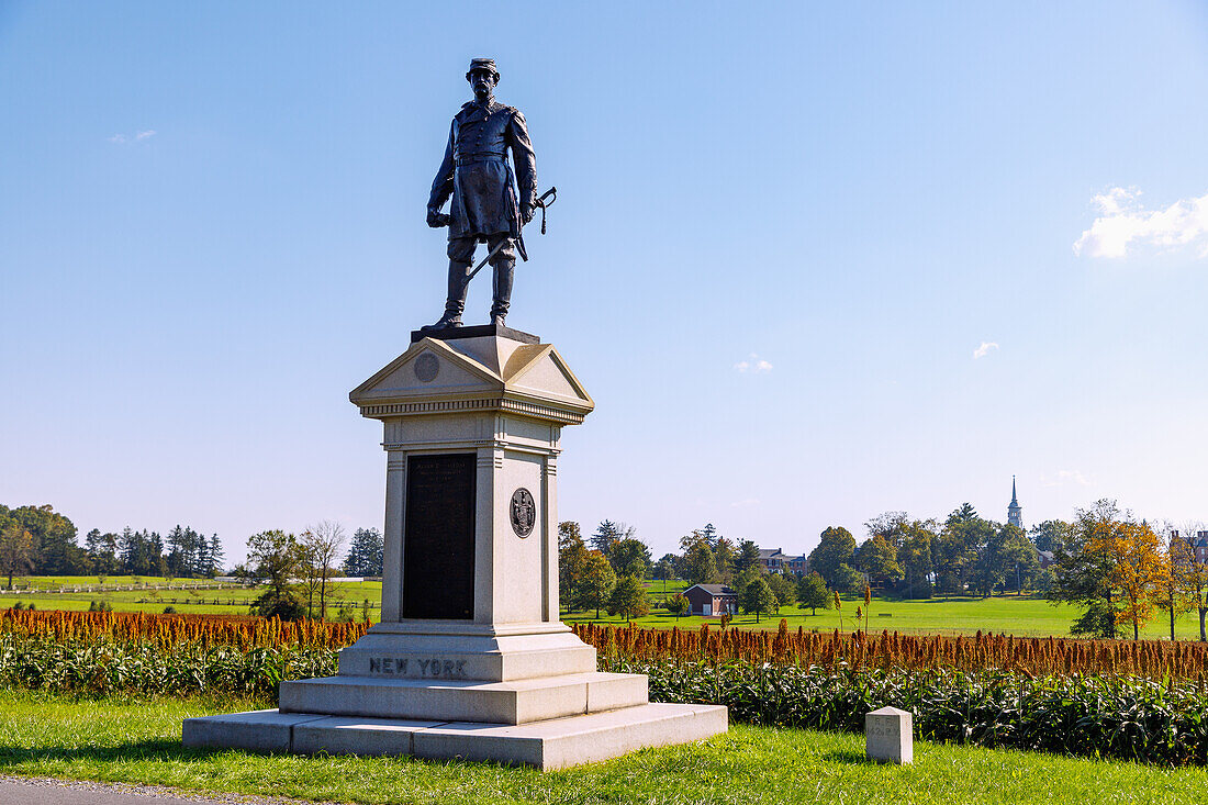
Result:
M522 228L533 220L536 160L524 115L494 98L499 71L493 59L474 59L465 74L474 100L461 106L449 128L445 160L428 199L428 225L449 228L449 282L445 314L425 330L461 326L470 265L486 243L494 270L492 324L504 324L512 295L516 251L525 260ZM507 162L512 152L516 170ZM452 197L448 215L441 207Z

